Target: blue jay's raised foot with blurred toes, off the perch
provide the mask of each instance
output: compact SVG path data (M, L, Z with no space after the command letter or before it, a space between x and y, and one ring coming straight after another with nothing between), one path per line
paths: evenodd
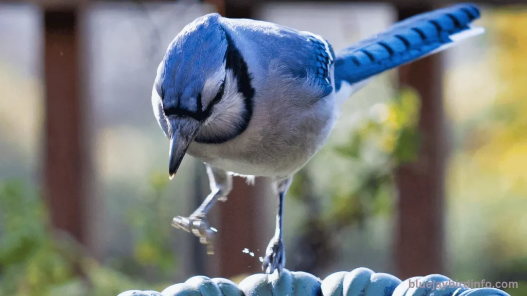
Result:
M172 226L198 236L200 243L207 245L207 254L214 254L212 241L217 230L209 226L206 216L195 214L188 218L176 216L172 219Z

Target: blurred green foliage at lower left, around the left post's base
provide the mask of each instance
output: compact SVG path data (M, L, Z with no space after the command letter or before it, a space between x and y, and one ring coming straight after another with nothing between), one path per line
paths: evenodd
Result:
M152 178L152 190L160 192L162 184L156 180ZM155 199L159 195L152 196ZM141 206L143 216L146 209L148 206ZM147 216L143 219L157 217ZM145 267L155 265L163 271L165 265L171 264L172 269L175 258L160 243L163 234L152 221L147 222L148 225L135 227L138 243L133 259ZM149 231L150 235L143 235ZM145 245L148 255L141 249ZM160 264L163 260L166 263ZM143 276L132 277L138 273L140 270L118 271L100 264L90 258L83 246L54 230L45 203L31 185L21 181L0 184L0 295L115 296L130 287L162 289L171 284L147 283Z

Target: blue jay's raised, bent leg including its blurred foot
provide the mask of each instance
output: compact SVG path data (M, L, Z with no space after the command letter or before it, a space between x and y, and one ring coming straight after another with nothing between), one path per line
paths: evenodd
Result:
M202 244L207 244L207 253L213 254L212 240L216 230L209 226L207 214L216 201L227 201L227 195L232 189L232 176L225 171L215 169L208 164L206 165L210 182L210 194L188 218L176 216L172 220L172 226L192 232L198 236Z

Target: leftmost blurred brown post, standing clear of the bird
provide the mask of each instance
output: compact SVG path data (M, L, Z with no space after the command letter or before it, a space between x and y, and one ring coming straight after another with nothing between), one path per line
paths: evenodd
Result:
M56 229L85 243L79 10L44 10L44 196Z

